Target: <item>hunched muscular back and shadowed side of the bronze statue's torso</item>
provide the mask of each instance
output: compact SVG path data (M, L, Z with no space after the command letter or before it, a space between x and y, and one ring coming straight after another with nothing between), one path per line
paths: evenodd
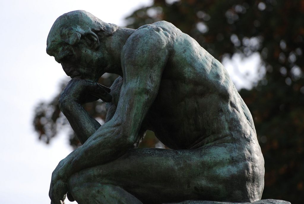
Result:
M139 30L153 30L165 39L169 55L143 129L153 130L172 149L257 144L251 114L218 60L166 21L142 26L135 33Z

